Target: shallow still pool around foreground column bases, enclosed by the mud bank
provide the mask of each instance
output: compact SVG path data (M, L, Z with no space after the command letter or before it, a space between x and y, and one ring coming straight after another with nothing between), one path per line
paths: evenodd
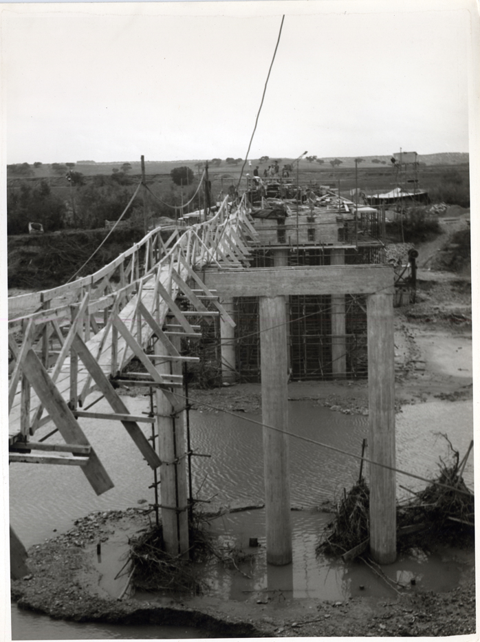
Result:
M210 586L209 595L236 601L281 604L285 599L320 599L345 601L350 597L395 597L389 584L371 568L356 560L344 564L315 554L318 536L329 521L325 513L292 511L292 564L272 566L265 556L265 511L244 511L219 517L211 523L212 533L236 543L252 559L239 565L239 570L217 564L200 566L203 579ZM258 548L249 547L251 537ZM404 585L402 590L450 590L457 586L464 561L453 549L441 549L428 556L413 551L402 555L395 564L382 571L393 582ZM248 576L248 577L247 577ZM415 581L415 586L411 580ZM397 587L400 588L400 587ZM168 594L159 593L158 597ZM136 599L151 600L151 593L138 592ZM182 600L188 602L185 596Z

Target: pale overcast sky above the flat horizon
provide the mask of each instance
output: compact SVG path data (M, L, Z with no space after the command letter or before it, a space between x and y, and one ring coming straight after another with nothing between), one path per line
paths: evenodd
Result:
M8 163L468 151L463 0L3 5Z

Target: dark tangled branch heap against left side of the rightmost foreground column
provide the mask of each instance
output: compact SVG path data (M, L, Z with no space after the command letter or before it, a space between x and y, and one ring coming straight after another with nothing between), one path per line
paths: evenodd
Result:
M370 490L363 478L337 504L334 519L325 526L316 553L338 557L369 537Z

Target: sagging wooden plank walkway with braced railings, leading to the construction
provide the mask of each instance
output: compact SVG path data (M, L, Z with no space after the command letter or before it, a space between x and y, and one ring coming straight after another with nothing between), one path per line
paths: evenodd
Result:
M153 420L131 416L117 392L119 378L135 356L147 374L126 375L129 386L148 382L168 398L183 385L181 375L162 372L155 363L197 360L178 350L182 337L201 336L192 319L221 315L234 325L195 270L246 266L257 236L245 200L232 213L223 202L210 220L175 231L166 242L161 232L152 231L94 275L9 299L9 348L15 359L8 398L10 462L77 465L96 493L107 491L113 483L80 427L82 418L95 417L122 422L148 464L160 466L139 426ZM67 304L52 306L62 297ZM36 311L17 315L25 306ZM161 350L147 354L155 341ZM88 410L104 397L111 413ZM56 431L65 444L48 441Z

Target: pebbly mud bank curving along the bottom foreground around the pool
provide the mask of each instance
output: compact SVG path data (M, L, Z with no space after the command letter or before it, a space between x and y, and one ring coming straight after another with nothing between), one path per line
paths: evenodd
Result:
M409 591L396 599L354 597L344 601L285 599L254 595L232 601L208 595L152 597L139 601L122 595L127 576L115 586L122 568L116 559L100 570L97 546L118 533L148 528L142 509L92 513L74 528L33 546L31 575L12 582L18 607L54 619L125 625L182 625L201 628L212 637L263 636L445 636L475 629L474 550L457 553L461 577L446 593ZM105 549L104 549L105 550ZM100 556L103 553L100 553ZM112 590L118 597L112 597Z

